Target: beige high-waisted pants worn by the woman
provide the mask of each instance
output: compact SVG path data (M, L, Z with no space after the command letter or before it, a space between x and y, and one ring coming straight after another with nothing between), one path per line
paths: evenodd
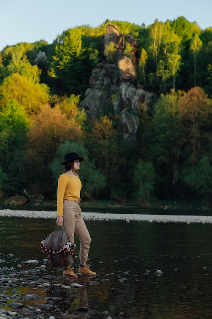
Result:
M78 201L64 200L63 230L67 232L71 243L74 243L74 233L76 233L80 241L79 260L84 265L87 262L91 237Z

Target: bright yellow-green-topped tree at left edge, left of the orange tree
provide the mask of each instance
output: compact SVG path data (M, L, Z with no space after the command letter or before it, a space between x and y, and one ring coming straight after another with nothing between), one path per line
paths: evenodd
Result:
M8 178L8 194L25 185L23 152L29 123L24 108L15 100L0 110L0 166Z

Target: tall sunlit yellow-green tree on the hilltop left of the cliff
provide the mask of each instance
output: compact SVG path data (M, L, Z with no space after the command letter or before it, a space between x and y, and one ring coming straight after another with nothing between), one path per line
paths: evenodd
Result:
M83 48L84 28L64 31L54 41L54 54L48 74L57 80L59 94L83 94L88 87L90 72L94 63L94 51ZM92 58L90 56L92 55ZM95 57L96 59L96 57ZM89 70L89 73L87 73Z

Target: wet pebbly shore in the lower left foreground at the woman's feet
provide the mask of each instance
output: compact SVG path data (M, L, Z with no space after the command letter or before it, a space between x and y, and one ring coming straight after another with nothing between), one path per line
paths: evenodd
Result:
M33 264L36 260L28 262ZM47 263L47 260L43 262ZM86 303L86 285L97 285L105 280L104 277L101 274L77 280L51 277L45 264L24 271L3 267L0 269L0 319L83 319L88 315L90 318L109 319L107 311L89 310ZM28 293L23 296L20 287L26 287ZM82 306L72 309L70 316L71 302L77 298L79 289L85 300L81 300ZM8 291L11 291L10 295Z

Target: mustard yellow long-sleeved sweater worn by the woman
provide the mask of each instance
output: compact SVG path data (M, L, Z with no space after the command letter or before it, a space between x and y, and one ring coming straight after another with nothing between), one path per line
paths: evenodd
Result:
M66 173L60 175L57 187L57 216L63 216L64 199L78 200L82 188L79 176L72 177Z

